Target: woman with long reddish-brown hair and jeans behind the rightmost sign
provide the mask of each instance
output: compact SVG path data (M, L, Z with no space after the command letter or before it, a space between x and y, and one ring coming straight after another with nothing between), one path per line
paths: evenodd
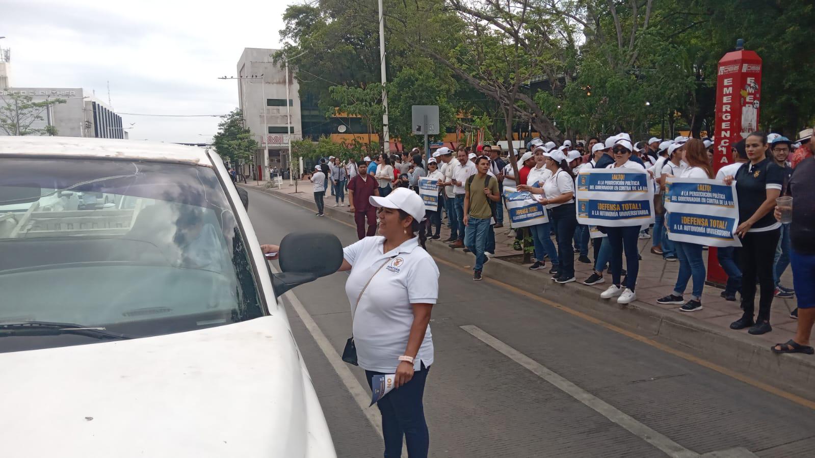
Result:
M688 165L681 170L679 178L713 178L713 169L707 161L707 148L700 139L690 139L685 143L685 163ZM672 175L667 175L672 176ZM667 236L667 234L666 234ZM705 262L702 258L702 245L688 242L674 241L676 254L679 257L679 275L676 277L676 286L673 293L657 299L660 304L684 304L680 310L702 310L702 289L705 287ZM690 300L685 302L682 294L688 286L688 280L694 278L694 291Z

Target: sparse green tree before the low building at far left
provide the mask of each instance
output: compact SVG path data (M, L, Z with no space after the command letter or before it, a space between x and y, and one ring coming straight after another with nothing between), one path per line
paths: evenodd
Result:
M50 98L35 101L31 95L22 94L0 95L0 129L7 135L56 135L54 126L33 126L45 119L51 107L67 102Z

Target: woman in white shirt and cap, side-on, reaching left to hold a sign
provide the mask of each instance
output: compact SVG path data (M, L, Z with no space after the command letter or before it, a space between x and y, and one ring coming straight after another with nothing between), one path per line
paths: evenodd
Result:
M544 153L543 156L546 157L546 169L549 171L543 188L519 186L518 190L544 195L539 201L549 210L552 223L557 225L557 259L559 262L553 261L554 267L557 267L557 273L552 280L557 283L571 283L575 281L575 253L571 246L571 236L577 227L575 178L572 177L571 168L563 152L553 150Z

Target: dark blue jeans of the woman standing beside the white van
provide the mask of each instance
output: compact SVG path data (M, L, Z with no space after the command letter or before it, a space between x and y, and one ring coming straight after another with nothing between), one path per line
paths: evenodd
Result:
M385 458L402 456L403 437L407 443L407 454L411 458L427 457L430 433L427 430L422 398L425 396L425 382L430 368L425 368L425 363L421 363L420 369L413 372L410 381L385 394L385 397L377 402L379 412L382 414ZM383 375L383 372L365 371L365 378L372 390L371 377L375 375Z

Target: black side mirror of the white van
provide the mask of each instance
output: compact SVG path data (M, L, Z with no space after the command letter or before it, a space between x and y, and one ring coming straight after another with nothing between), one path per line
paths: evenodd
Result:
M298 232L280 241L280 272L271 276L275 296L331 275L342 266L342 244L326 232Z

